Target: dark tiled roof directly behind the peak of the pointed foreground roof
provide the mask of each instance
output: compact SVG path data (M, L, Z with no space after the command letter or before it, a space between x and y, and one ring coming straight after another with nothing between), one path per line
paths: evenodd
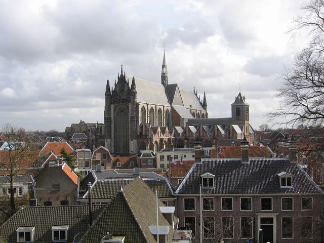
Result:
M132 182L134 179L104 179L97 180L91 186L91 195L93 199L111 199L115 196L120 187L124 187ZM159 198L163 197L173 197L174 188L166 178L161 179L142 179L146 185L155 193L155 188L157 190L157 196ZM88 198L88 192L83 196L83 198Z

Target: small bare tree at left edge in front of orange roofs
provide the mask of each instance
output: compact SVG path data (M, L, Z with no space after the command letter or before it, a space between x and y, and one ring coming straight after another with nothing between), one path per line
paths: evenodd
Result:
M0 166L9 175L10 180L10 210L0 207L6 214L16 212L14 181L15 177L22 174L23 170L28 169L31 164L36 164L37 151L30 150L30 142L24 129L6 124L2 128L5 135L4 150L0 151Z

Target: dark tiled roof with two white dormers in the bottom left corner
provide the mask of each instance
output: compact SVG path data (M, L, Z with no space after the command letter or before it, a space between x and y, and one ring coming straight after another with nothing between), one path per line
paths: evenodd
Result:
M93 205L93 219L103 210L102 205ZM49 217L51 216L51 217ZM0 235L8 242L17 242L18 227L35 226L33 242L52 242L52 226L68 225L67 242L74 236L83 235L89 228L89 206L26 207L17 211L0 227Z

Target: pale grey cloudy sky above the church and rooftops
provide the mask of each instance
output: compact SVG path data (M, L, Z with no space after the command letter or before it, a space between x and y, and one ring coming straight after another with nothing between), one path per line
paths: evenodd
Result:
M123 64L160 83L165 43L169 84L206 91L209 117L230 116L240 86L258 129L278 107L279 73L306 42L287 33L301 0L0 4L0 127L102 123L106 80Z

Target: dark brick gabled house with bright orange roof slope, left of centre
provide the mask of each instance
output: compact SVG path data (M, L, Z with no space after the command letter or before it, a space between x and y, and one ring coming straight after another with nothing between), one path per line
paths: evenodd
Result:
M76 205L79 178L62 160L49 161L35 179L38 203L44 206Z

